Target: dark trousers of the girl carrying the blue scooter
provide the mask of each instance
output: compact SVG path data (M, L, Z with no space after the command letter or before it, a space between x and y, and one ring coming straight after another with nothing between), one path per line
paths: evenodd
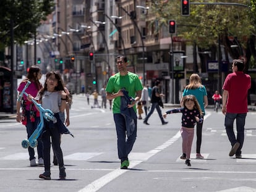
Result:
M55 117L58 114L55 114ZM58 115L59 116L59 115ZM56 117L59 120L59 117ZM59 167L64 167L63 154L61 151L60 133L58 123L47 122L45 120L45 130L42 134L43 141L43 160L45 163L45 172L50 170L50 150L51 144L53 146L54 154L57 157Z

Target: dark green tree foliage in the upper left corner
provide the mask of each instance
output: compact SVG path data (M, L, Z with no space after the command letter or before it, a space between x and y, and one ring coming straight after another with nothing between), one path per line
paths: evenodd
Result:
M11 19L14 23L14 41L23 44L32 38L41 20L53 11L54 0L1 0L0 41L10 44Z

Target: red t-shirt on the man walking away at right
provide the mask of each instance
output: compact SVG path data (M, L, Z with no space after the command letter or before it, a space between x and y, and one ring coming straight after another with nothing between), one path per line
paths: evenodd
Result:
M250 75L243 72L230 73L226 77L222 89L228 91L226 112L233 114L248 112L247 94L250 89Z

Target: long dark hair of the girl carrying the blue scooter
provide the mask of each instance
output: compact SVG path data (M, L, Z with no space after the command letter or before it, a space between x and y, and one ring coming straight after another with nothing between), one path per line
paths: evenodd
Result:
M43 88L42 88L42 89L40 90L40 92L39 92L39 93L40 93L40 101L41 101L41 99L42 99L43 93L45 93L45 91L48 91L48 90L47 90L47 80L48 80L48 78L49 78L51 75L54 75L54 77L56 78L56 80L58 80L58 85L55 86L54 90L55 90L55 91L64 91L64 92L66 93L66 91L65 91L65 89L64 89L64 83L63 83L63 81L62 81L61 75L60 75L58 72L51 71L51 72L48 72L48 73L46 74L45 84L44 84ZM69 103L71 103L70 96L67 95L66 101L69 102Z

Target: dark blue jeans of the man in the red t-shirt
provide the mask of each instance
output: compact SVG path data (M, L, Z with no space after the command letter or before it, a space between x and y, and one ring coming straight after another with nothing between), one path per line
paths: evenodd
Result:
M242 145L244 144L244 125L245 125L245 114L230 114L227 113L225 116L225 127L228 139L231 143L231 146L234 146L235 143L240 143L239 148L236 151L236 155L241 155ZM237 138L234 134L234 120L236 119L236 131Z

